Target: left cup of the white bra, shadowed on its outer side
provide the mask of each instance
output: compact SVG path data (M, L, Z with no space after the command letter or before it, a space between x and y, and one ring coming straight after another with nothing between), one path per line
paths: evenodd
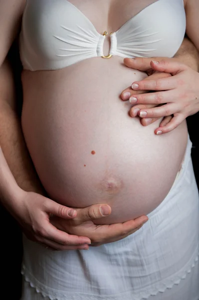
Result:
M49 64L56 69L101 56L104 38L70 2L29 0L20 34L22 64L31 70L48 69Z

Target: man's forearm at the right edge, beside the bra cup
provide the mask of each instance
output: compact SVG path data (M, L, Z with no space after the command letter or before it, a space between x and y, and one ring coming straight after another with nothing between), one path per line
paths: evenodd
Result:
M178 61L189 65L196 71L199 71L199 52L189 38L184 38L183 43L174 55Z

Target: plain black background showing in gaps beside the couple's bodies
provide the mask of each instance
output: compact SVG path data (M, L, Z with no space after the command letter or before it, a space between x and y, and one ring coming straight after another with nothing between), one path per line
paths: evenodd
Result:
M21 70L21 66L17 52L18 51L16 51L16 46L14 44L10 50L9 58L15 72L16 91L18 95L18 113L20 115L22 93L19 72ZM192 159L199 186L199 113L188 117L187 121L190 138L193 142ZM9 299L19 300L22 281L20 274L22 261L22 235L16 221L2 206L0 206L0 233L0 288L1 291L5 290L6 293L8 292L7 294L9 294Z

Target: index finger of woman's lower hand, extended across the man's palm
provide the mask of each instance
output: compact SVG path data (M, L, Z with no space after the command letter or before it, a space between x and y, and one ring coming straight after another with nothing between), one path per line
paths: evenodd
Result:
M72 235L59 230L47 220L43 228L45 229L36 232L37 235L40 235L42 236L42 238L44 237L50 239L62 245L81 245L85 243L89 244L91 242L90 238L86 236Z

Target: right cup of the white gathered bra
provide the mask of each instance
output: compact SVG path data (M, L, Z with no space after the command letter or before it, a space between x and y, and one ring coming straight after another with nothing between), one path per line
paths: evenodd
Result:
M167 0L164 9L162 6L162 0L156 1L127 21L112 37L116 46L110 53L123 57L173 57L185 36L185 9L182 0Z

